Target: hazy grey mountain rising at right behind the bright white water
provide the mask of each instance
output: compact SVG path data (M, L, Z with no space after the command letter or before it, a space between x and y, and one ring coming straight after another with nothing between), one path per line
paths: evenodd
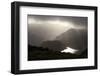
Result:
M87 48L87 31L70 29L56 37L56 40L62 42L66 47L71 47L77 50Z

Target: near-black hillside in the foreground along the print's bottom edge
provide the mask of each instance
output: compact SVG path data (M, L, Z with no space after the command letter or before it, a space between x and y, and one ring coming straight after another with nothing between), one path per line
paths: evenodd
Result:
M87 58L84 53L81 55L71 53L61 53L48 48L35 47L28 45L28 60L52 60L52 59L79 59Z

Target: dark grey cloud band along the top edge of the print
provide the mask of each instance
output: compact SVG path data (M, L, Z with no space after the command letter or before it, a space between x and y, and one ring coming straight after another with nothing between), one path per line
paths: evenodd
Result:
M73 16L43 16L43 15L28 15L29 18L34 18L36 21L49 21L49 20L60 20L69 21L76 25L87 25L87 17L73 17Z

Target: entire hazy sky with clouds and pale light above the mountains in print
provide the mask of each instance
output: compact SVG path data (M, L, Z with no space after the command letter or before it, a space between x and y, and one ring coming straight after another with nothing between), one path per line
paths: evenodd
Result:
M28 15L28 43L54 40L69 29L87 30L87 17Z

